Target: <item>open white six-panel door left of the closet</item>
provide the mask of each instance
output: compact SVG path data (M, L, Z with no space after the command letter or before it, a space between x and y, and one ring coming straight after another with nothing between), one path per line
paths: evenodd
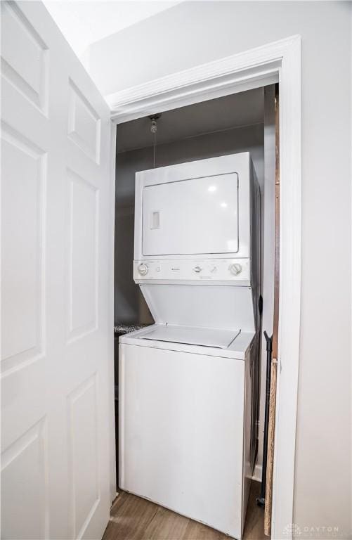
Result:
M43 4L1 18L1 538L100 539L110 111Z

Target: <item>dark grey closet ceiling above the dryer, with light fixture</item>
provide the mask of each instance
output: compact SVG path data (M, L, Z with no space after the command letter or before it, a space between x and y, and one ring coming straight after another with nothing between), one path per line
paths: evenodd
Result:
M169 110L157 120L157 143L180 141L214 131L223 131L264 121L263 88L256 88ZM150 119L139 118L117 126L117 151L152 146Z

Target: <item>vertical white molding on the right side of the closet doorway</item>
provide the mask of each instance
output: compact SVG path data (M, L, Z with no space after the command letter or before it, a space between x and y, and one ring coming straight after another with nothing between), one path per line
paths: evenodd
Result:
M293 523L301 326L301 40L280 68L280 299L272 538ZM285 534L285 537L289 535Z

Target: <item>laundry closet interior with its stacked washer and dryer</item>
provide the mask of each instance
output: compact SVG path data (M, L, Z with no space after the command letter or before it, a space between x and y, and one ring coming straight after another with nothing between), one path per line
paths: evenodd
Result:
M274 106L270 85L117 126L117 486L238 539L263 462Z

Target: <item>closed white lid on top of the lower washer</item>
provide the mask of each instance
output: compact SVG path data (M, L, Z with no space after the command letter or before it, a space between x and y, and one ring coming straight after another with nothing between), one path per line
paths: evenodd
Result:
M143 340L169 341L185 345L203 345L227 349L241 330L219 330L219 328L196 328L192 326L160 325L143 333Z

